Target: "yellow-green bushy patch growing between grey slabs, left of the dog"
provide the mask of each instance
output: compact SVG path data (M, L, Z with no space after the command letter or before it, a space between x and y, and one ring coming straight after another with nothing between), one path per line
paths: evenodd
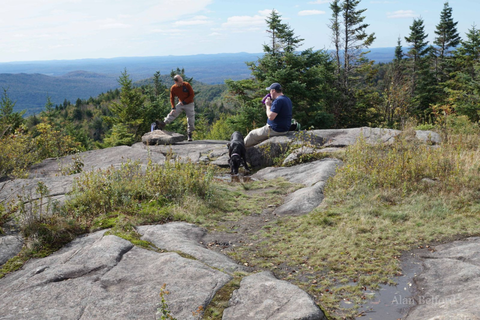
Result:
M168 203L180 203L185 196L208 200L212 192L211 181L209 169L205 172L204 167L191 162L149 163L142 172L139 162L129 160L119 169L84 172L75 180L72 199L66 202L64 209L86 226L100 215L106 219L118 219L119 214L126 214L140 217L139 222L165 221L165 212L154 215L157 219L151 218L149 202L153 201L158 211L158 207ZM101 227L108 227L113 222L94 222L97 226L99 223L104 223Z

